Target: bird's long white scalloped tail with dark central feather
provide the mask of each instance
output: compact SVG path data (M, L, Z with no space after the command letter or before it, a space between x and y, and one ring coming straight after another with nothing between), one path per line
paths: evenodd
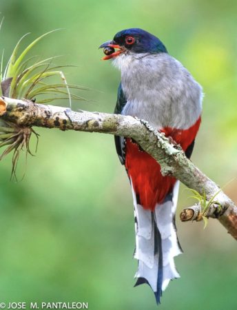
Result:
M169 281L179 278L174 265L174 256L182 253L174 220L178 186L176 182L173 194L169 194L162 204L156 205L154 212L143 209L137 203L132 187L136 231L134 258L138 260L135 286L143 283L150 285L157 303L160 303L162 291Z

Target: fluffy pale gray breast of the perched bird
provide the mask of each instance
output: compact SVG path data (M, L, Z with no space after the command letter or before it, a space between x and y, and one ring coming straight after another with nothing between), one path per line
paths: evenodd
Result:
M202 110L202 88L169 54L117 57L127 104L122 114L137 116L156 128L186 129Z

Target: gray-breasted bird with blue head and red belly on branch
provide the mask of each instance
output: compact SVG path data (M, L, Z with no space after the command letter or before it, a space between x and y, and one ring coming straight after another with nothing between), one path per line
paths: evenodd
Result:
M99 48L104 48L103 60L111 59L121 71L114 113L147 121L190 158L201 121L200 84L160 39L140 28L122 30ZM179 181L163 176L161 166L132 138L114 140L134 202L134 286L150 285L159 304L169 281L180 277L174 263L174 257L183 253L175 223Z

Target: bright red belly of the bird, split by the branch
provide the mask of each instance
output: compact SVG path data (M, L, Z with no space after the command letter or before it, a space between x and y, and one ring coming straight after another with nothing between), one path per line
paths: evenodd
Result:
M165 127L161 132L164 132L165 136L171 136L185 151L194 141L199 126L200 118L188 130L174 130ZM145 209L153 211L156 203L163 202L176 182L172 176L162 176L161 166L152 156L141 151L130 138L126 139L125 167L128 175L132 178L134 192L139 196L140 203Z

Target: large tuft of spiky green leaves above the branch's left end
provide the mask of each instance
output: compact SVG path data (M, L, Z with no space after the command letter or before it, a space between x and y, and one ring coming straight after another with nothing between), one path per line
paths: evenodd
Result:
M70 93L70 89L81 90L82 87L78 85L68 84L63 74L63 71L59 70L61 68L69 67L69 65L52 65L52 61L59 56L52 56L41 61L35 61L33 63L32 61L36 59L36 56L32 56L24 60L28 52L30 52L32 48L34 48L34 45L41 41L43 37L55 31L56 30L47 32L41 35L41 37L32 41L32 43L30 43L30 45L28 45L25 50L23 50L23 52L21 52L21 54L17 57L21 42L28 35L25 34L15 46L5 70L3 70L2 54L0 83L8 81L9 87L8 94L4 94L2 90L3 87L1 87L1 95L9 96L10 98L23 98L29 100L32 100L35 96L40 96L42 94L53 95L45 99L37 100L38 103L47 103L56 99L65 99L66 95L70 101L70 105L72 99L82 99L80 96ZM47 83L46 81L48 81L48 78L52 76L59 76L63 83Z

